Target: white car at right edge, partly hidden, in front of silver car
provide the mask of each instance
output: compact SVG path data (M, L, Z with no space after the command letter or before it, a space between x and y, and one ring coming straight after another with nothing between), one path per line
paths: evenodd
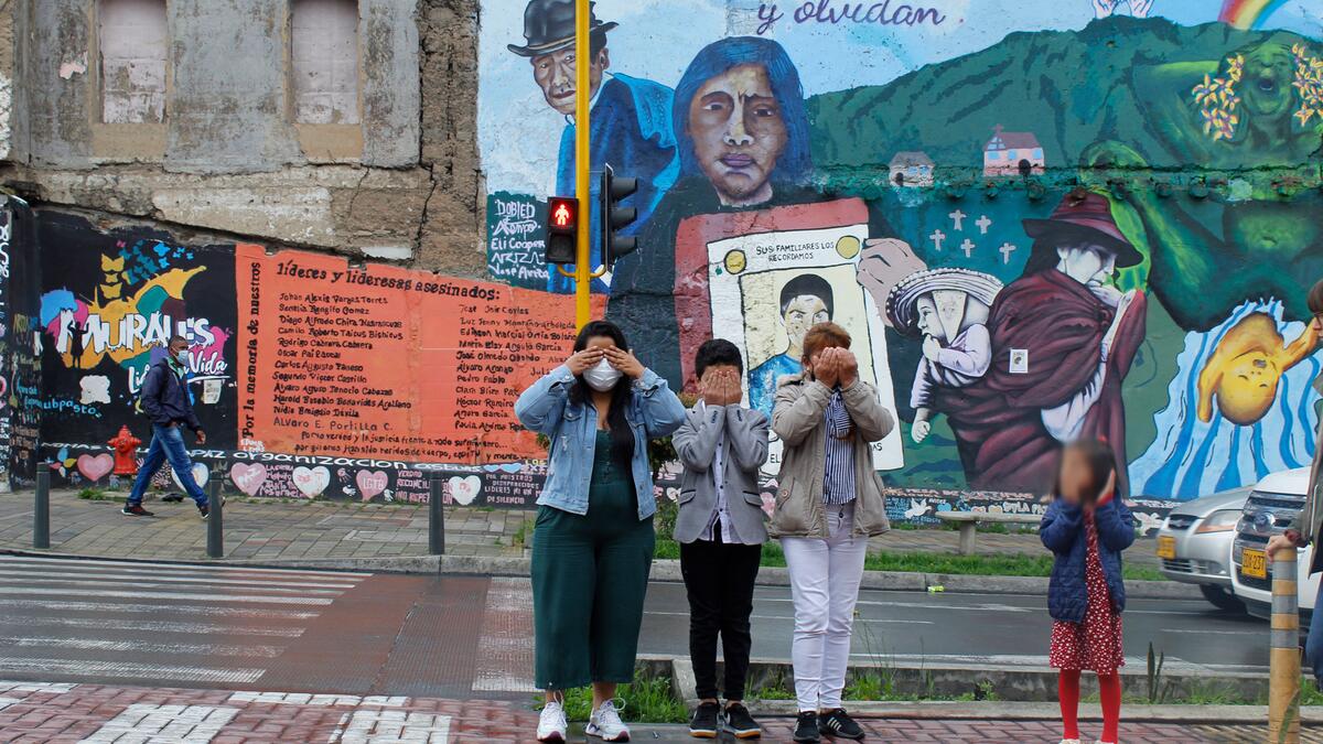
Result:
M1281 535L1301 512L1308 488L1310 469L1298 467L1265 477L1245 502L1245 511L1236 527L1236 541L1232 544L1232 592L1256 617L1266 618L1273 609L1273 577L1263 547L1269 537ZM1308 575L1312 557L1310 551L1314 548L1312 544L1301 548L1295 561L1302 616L1314 613L1314 600L1319 592L1319 575Z

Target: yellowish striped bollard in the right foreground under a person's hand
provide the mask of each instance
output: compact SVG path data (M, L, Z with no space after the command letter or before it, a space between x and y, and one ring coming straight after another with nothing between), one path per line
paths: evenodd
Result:
M1273 560L1273 624L1267 682L1267 740L1301 740L1301 614L1295 586L1295 552L1277 551Z

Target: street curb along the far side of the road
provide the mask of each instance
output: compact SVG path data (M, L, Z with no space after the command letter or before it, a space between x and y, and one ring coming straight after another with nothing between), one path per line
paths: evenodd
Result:
M0 548L0 553L17 556L48 556L90 560L138 561L56 553L21 548ZM372 571L377 573L442 573L456 576L528 576L529 559L505 556L392 556L392 557L319 557L319 559L222 559L222 560L169 560L151 563L179 563L200 565L242 565L249 568L302 568L308 571ZM654 581L683 582L680 561L660 559L652 561ZM790 571L767 567L758 572L759 586L790 586ZM942 592L974 594L1046 594L1048 579L1040 576L978 576L949 573L909 573L900 571L865 571L863 589L889 592L925 592L941 586ZM1126 596L1135 600L1199 600L1203 593L1195 584L1179 581L1126 581Z

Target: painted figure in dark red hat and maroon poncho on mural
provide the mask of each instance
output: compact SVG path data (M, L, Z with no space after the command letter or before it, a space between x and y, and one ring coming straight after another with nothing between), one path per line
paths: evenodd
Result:
M1033 250L992 302L987 372L968 387L934 387L934 408L947 413L972 488L1045 494L1060 446L1090 438L1111 445L1126 494L1121 384L1144 340L1146 301L1113 277L1143 257L1107 197L1085 189L1024 230Z

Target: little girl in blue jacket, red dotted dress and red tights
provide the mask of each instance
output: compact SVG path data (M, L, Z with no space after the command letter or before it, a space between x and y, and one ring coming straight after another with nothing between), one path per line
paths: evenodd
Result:
M1043 544L1056 556L1048 584L1048 610L1056 621L1049 662L1061 670L1061 744L1080 744L1080 671L1086 669L1098 674L1103 721L1098 741L1117 744L1126 608L1121 551L1135 541L1135 526L1115 486L1111 447L1095 441L1068 445L1056 495L1039 527Z

